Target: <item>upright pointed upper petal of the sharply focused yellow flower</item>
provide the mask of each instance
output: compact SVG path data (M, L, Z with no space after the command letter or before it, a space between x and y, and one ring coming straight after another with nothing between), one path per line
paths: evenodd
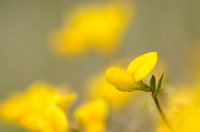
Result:
M156 65L156 62L157 62L156 52L146 53L133 60L129 64L127 72L133 75L134 80L138 82L152 71L152 69Z

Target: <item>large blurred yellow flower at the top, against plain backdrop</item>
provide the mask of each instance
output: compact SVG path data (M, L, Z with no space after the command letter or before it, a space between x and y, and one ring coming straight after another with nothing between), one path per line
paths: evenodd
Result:
M125 4L79 7L65 19L62 28L50 35L50 47L60 55L80 55L90 50L110 54L118 47L130 17L130 7Z

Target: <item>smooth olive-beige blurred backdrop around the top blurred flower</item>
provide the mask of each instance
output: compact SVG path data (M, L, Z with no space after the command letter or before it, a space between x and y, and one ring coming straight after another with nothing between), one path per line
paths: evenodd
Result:
M199 0L130 0L136 16L112 56L93 52L71 59L49 51L47 37L61 27L63 14L70 14L80 5L105 1L0 0L0 99L36 80L66 83L74 91L81 91L88 77L113 60L149 51L157 51L165 60L171 82L186 81L186 56L200 37ZM1 123L0 131L13 129Z

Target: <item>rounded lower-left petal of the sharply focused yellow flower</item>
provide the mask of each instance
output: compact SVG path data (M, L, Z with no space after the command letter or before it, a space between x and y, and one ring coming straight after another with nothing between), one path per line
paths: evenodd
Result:
M123 69L112 67L106 71L105 77L120 91L133 91L135 88L133 76Z

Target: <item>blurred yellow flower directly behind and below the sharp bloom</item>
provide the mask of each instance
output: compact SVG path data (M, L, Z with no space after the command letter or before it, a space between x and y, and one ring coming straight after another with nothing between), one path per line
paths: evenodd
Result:
M134 94L118 91L106 81L103 73L92 76L88 81L87 87L87 96L90 99L103 98L115 110L127 104Z

